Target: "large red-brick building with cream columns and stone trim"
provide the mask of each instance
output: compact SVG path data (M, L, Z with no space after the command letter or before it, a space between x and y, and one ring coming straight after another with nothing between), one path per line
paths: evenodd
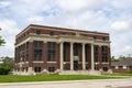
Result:
M31 24L15 37L14 74L109 72L109 33Z

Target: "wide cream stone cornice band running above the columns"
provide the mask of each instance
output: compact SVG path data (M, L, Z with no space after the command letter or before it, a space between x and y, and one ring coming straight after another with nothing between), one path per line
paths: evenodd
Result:
M34 41L44 41L44 42L73 42L73 43L89 43L94 45L107 45L110 46L109 41L102 41L102 40L94 40L92 37L87 36L76 36L76 35L36 35L35 33L30 33L29 37L26 37L21 43L16 44L15 47L26 43L26 42L33 42Z

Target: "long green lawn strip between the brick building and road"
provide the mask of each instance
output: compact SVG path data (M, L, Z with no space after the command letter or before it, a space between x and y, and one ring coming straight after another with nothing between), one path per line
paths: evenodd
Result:
M84 80L84 79L117 79L121 77L88 76L88 75L36 75L36 76L0 76L0 82L22 81L55 81L55 80Z

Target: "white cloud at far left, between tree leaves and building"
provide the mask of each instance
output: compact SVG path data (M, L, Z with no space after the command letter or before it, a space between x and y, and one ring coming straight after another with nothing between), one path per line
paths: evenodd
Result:
M1 36L7 42L4 46L0 46L0 56L12 56L14 54L15 35L20 32L18 24L13 20L0 20Z

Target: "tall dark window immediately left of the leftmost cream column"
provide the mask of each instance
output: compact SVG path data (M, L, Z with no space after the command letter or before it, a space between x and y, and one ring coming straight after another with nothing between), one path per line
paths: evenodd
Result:
M48 51L47 51L47 55L48 55L48 62L54 62L55 61L55 42L48 42Z

